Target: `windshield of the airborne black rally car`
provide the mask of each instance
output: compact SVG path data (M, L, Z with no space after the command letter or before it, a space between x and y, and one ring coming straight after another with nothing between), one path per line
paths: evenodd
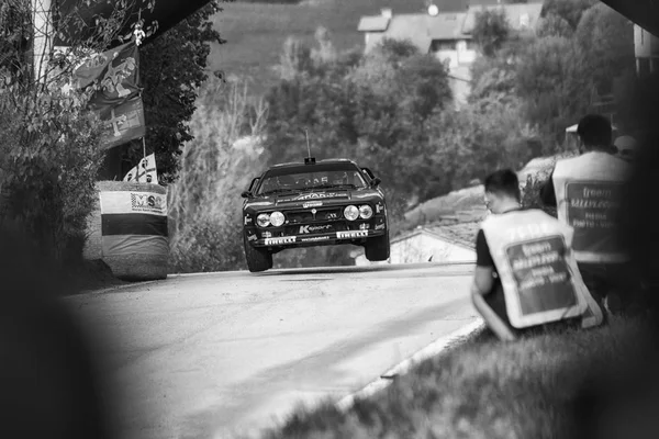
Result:
M366 187L367 184L361 176L361 171L355 167L312 165L304 168L293 167L290 170L277 169L276 171L268 171L259 184L257 194L264 195L331 188L358 189Z

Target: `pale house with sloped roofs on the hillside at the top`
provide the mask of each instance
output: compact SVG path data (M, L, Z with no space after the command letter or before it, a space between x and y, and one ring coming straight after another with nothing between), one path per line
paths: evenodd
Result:
M471 65L478 56L472 41L476 16L482 10L502 9L517 32L535 32L543 12L544 0L528 3L471 4L466 11L394 14L382 9L380 15L362 16L358 31L364 33L365 52L383 38L410 40L421 53L434 54L446 63L456 106L467 101L471 91ZM431 13L432 12L432 13Z

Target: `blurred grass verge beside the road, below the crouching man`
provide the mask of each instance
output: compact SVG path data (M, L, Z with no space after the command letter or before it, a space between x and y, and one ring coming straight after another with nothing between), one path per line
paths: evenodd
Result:
M628 341L632 337L641 346L633 335L639 327L635 320L614 319L608 327L512 344L479 337L418 364L346 414L332 405L310 413L299 409L266 437L582 437L571 436L573 423L583 421L573 412L578 395L583 396L579 392L588 389L589 379L619 375L615 368L637 358L634 353L640 350L630 352L635 347Z

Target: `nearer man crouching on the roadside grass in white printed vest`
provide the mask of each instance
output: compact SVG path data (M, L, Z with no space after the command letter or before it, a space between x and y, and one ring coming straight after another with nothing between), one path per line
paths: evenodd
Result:
M602 311L572 256L572 228L540 210L523 210L512 170L492 173L484 187L492 215L477 236L471 297L487 325L502 340L600 325Z

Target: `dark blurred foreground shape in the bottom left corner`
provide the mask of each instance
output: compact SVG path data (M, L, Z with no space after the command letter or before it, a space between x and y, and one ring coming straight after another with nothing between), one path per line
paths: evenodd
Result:
M110 438L100 334L83 327L59 297L75 293L13 225L0 229L0 438Z

